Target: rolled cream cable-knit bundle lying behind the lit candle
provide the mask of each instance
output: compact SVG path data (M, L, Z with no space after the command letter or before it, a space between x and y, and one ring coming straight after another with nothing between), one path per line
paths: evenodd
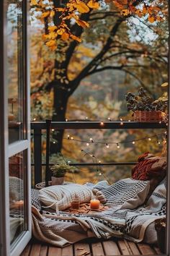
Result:
M65 210L71 206L71 200L79 197L80 202L89 202L93 193L89 187L80 184L66 184L40 189L39 197L43 205L56 211Z

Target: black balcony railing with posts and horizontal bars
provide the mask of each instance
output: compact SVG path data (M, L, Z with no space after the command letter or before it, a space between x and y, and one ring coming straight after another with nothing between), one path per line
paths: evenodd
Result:
M48 128L48 129L47 129ZM135 122L135 121L52 121L50 129L165 129L164 123L153 122ZM35 184L42 182L42 130L49 132L49 126L45 121L35 121L31 123L32 135L34 137L34 163L35 166ZM49 145L49 141L47 143ZM47 145L47 146L48 146ZM46 157L46 161L49 159ZM112 162L112 163L70 163L73 166L120 166L134 165L135 162ZM49 163L49 166L53 163ZM48 179L48 177L46 177ZM47 183L47 180L46 180Z

